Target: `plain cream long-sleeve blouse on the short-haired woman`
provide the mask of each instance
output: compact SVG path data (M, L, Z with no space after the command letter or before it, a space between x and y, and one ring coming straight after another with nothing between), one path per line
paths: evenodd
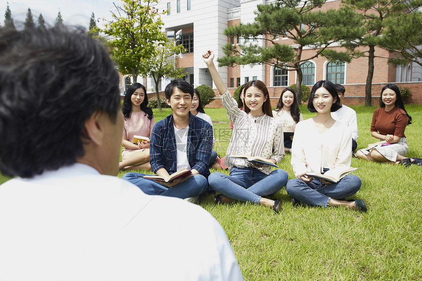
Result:
M319 133L314 119L297 123L291 146L291 165L294 175L308 172L336 175L350 167L352 161L352 136L347 126L336 121L324 133Z

